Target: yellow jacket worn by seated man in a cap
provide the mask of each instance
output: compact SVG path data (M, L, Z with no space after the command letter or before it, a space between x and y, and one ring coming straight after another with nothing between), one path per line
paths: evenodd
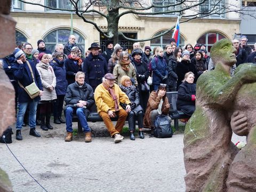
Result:
M117 97L119 109L122 107L120 106L120 102L130 104L131 101L127 97L127 95L120 89L117 84L114 84L114 90ZM106 113L108 110L115 111L115 101L112 99L108 90L102 85L98 85L94 91L94 100L97 106L97 112L105 111Z

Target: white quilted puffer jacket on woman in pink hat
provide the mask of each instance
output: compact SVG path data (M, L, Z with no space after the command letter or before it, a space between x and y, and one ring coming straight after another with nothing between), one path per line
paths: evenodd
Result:
M38 70L43 85L43 95L41 96L41 101L52 101L57 99L55 91L56 77L52 66L49 64L46 65L40 61L37 64L36 69ZM50 91L51 86L53 86L52 91Z

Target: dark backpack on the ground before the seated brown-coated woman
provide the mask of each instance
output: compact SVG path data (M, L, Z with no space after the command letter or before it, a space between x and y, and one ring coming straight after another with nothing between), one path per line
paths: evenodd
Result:
M158 115L155 120L154 137L170 138L173 135L171 121L166 115Z

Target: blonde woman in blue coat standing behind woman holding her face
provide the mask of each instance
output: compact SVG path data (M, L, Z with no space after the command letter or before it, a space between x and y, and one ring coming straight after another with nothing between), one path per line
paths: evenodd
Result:
M156 55L151 61L151 68L153 71L153 89L156 91L160 84L166 84L168 77L167 63L164 56L164 50L157 47Z

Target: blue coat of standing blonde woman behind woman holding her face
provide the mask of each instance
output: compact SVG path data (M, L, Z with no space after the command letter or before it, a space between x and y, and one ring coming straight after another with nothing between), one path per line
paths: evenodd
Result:
M165 59L157 55L152 59L151 66L153 70L153 84L159 85L161 83L166 83L163 80L163 78L168 75L167 64Z

